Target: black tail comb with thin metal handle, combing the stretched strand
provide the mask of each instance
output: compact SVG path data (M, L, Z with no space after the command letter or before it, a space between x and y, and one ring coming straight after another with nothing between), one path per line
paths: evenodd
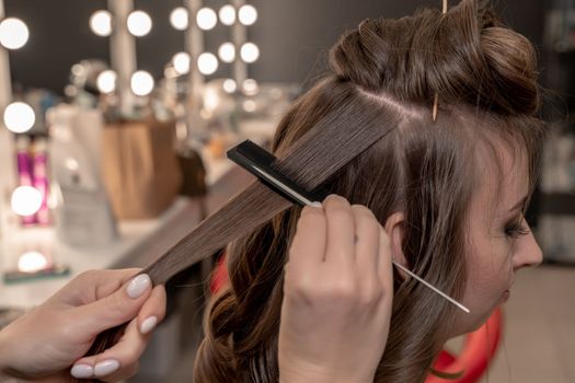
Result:
M322 201L327 197L327 192L324 189L317 189L314 192L308 192L300 187L296 182L290 179L288 176L281 174L273 167L276 158L265 149L258 147L250 140L245 140L237 147L230 149L227 152L228 159L235 162L238 165L246 170L248 172L255 175L264 185L276 192L284 198L292 201L300 206L310 206L313 201ZM394 259L391 260L395 267L410 275L412 278L423 283L425 287L432 289L450 303L455 304L465 313L469 313L469 309L460 302L456 301L432 283L427 282L423 278L419 278Z

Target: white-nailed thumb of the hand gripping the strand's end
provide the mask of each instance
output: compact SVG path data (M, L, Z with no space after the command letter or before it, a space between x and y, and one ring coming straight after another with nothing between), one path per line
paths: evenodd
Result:
M111 294L74 309L77 324L82 334L99 333L131 321L151 293L151 280L140 274Z

